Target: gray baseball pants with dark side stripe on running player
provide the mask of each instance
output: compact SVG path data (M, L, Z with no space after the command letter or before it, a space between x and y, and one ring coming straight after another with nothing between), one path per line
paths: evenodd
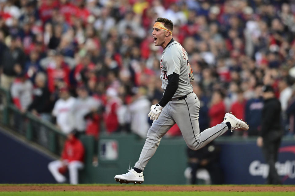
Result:
M199 129L200 101L195 93L189 93L183 100L172 99L163 108L159 118L154 120L148 130L147 139L135 168L144 171L150 158L155 154L162 137L176 123L187 146L198 150L224 134L228 127L220 123L200 133ZM222 121L222 119L220 119Z

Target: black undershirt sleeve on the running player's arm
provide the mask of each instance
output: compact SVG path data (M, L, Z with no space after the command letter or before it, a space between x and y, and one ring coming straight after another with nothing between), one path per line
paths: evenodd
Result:
M162 99L159 101L160 106L165 107L165 105L172 99L173 95L178 89L178 80L179 75L175 74L174 72L168 76L168 84Z

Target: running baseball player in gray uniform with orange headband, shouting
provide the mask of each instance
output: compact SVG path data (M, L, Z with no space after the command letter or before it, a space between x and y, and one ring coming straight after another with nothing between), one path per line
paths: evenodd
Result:
M179 126L187 146L192 150L203 148L227 130L242 128L248 125L234 115L226 113L222 123L204 130L199 130L200 101L193 92L190 82L193 80L192 70L187 52L172 38L173 23L167 18L157 18L153 26L155 46L163 50L160 68L164 94L158 104L151 106L148 117L154 122L148 130L147 139L134 169L128 173L116 175L120 183L143 183L143 171L150 158L155 154L164 134L175 124Z

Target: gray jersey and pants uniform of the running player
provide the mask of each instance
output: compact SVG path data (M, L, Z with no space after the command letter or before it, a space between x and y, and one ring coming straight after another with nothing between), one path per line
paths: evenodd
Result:
M135 164L135 168L143 171L150 158L155 154L161 138L175 123L177 123L187 146L193 150L203 148L228 130L226 123L222 122L200 133L198 121L200 101L192 92L191 68L187 52L178 42L174 41L164 49L160 67L162 88L165 90L168 84L167 76L173 72L179 74L179 86L172 100L163 107L159 118L154 120L148 130L140 158ZM222 119L220 120L222 121Z

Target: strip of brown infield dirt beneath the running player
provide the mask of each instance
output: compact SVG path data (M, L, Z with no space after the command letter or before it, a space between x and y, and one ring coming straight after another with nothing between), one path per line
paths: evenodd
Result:
M295 186L0 186L1 191L295 191Z

